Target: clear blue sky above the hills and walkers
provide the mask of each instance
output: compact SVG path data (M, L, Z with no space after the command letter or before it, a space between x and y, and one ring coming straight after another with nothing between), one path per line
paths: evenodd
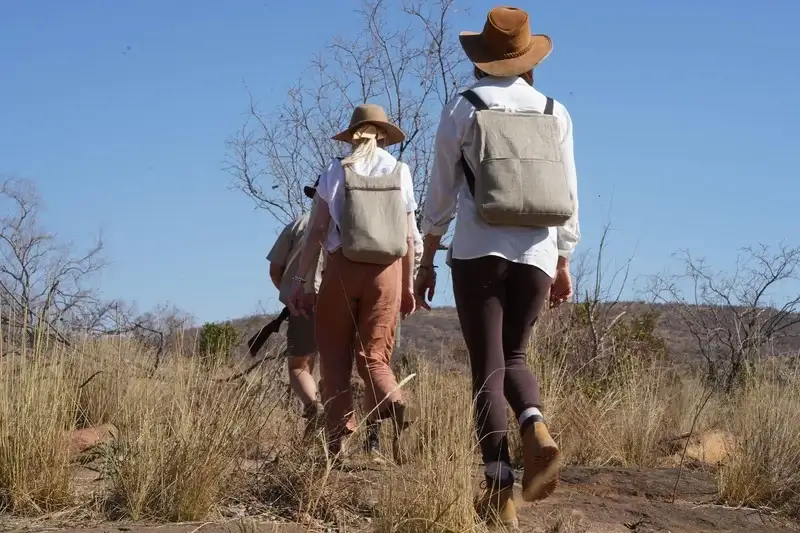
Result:
M242 80L280 103L357 5L4 0L0 173L36 182L62 238L103 231L106 295L200 320L273 310L264 255L278 228L228 188L225 141ZM462 5L458 29L480 30L494 4ZM554 40L537 85L575 123L582 247L610 220L609 253L635 253L643 276L679 248L725 267L741 246L797 239L800 3L521 7Z

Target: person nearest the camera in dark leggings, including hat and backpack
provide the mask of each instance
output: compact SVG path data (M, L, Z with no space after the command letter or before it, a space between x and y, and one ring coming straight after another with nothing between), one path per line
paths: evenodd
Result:
M531 33L525 11L492 9L482 32L459 38L477 81L441 115L415 294L430 309L434 256L457 209L448 264L485 464L476 506L490 523L513 527L507 403L522 435L523 499L546 498L558 484L560 453L526 348L548 294L552 306L572 294L569 257L580 240L572 120L533 87L552 42Z

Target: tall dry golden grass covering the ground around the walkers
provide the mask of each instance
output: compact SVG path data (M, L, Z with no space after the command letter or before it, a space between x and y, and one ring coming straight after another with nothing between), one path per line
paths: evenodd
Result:
M612 343L602 364L586 364L581 332L548 320L538 326L529 363L567 461L653 467L674 455L664 441L692 426L702 382L635 343ZM65 435L108 422L118 435L102 449L104 484L92 495L104 503L96 507L104 518L213 519L237 504L319 527L369 519L383 533L483 530L472 508L480 461L463 370L412 358L401 372L416 374L405 387L420 411L405 450L410 464L369 473L332 470L321 443L299 441L299 410L275 379L282 368L227 383L220 378L234 369L225 361L209 366L174 355L154 371L152 360L120 340L0 353L5 512L90 507L72 486ZM721 500L800 512L797 390L796 370L762 370L734 396L705 404L695 431L728 431L735 440L718 471ZM512 423L518 449L515 429ZM354 441L359 448L360 435ZM546 527L584 525L554 515Z

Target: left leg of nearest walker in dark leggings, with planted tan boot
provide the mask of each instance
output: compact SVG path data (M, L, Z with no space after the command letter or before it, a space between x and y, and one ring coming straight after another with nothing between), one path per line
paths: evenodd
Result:
M453 259L453 295L469 352L475 426L485 465L486 490L476 510L506 526L517 523L514 474L508 452L508 416L502 329L508 262L498 257Z

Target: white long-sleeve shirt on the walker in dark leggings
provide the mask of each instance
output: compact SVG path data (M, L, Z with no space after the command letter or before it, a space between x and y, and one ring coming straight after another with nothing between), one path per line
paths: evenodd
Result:
M544 111L547 97L522 78L486 77L471 89L493 109ZM561 149L569 187L575 199L575 213L563 226L526 228L490 225L477 213L461 168L462 147L472 168L471 128L475 124L475 108L462 96L448 102L442 111L436 132L433 170L422 219L422 232L444 235L458 210L456 228L450 245L455 259L474 259L486 255L503 257L515 263L533 265L549 276L555 276L558 257L569 257L580 241L578 224L578 185L573 154L572 119L559 102L554 102L553 115L561 127Z

